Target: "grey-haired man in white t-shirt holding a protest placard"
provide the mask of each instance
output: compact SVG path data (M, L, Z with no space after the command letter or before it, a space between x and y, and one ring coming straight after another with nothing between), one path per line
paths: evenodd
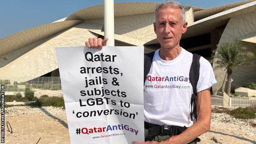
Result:
M210 87L216 83L210 63L200 58L199 80L197 83L197 121L190 119L190 100L193 93L189 72L192 53L181 48L181 35L187 30L185 9L176 1L160 3L155 9L154 31L161 48L155 51L151 69L144 83L144 121L158 126L177 126L181 133L162 134L145 137L145 143L133 144L196 144L196 138L210 130L211 97ZM102 48L106 39L90 38L88 48ZM168 78L156 81L152 78ZM168 85L168 89L156 89L149 86ZM146 131L145 131L146 132ZM158 142L156 142L158 141Z

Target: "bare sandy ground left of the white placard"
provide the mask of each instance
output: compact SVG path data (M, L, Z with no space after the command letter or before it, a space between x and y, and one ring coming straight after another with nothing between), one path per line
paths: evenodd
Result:
M7 144L37 144L38 141L38 144L70 144L66 115L7 115L5 121L9 121L13 131L10 133L5 128Z

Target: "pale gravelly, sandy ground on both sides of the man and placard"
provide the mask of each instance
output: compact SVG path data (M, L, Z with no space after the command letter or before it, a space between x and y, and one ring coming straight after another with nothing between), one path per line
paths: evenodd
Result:
M221 106L212 106L219 109ZM7 132L7 144L70 144L66 112L57 107L8 107L5 121L11 124L13 133ZM254 125L251 125L254 124ZM256 119L235 119L225 113L212 113L210 131L201 135L199 144L256 144Z

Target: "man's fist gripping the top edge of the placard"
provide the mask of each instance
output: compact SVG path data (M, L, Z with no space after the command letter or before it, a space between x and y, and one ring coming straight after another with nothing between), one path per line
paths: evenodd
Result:
M108 40L108 38L101 39L101 38L97 38L97 37L94 37L94 38L90 37L88 39L88 41L85 42L85 45L88 48L98 48L101 50L103 46L106 46L107 40Z

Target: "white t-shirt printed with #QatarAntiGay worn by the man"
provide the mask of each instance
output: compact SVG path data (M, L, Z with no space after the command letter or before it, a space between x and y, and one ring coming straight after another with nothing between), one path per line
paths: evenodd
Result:
M191 126L190 101L193 93L189 80L193 54L181 48L171 61L159 57L155 51L149 74L144 84L144 121L158 125ZM197 92L212 87L215 76L211 64L201 57Z

